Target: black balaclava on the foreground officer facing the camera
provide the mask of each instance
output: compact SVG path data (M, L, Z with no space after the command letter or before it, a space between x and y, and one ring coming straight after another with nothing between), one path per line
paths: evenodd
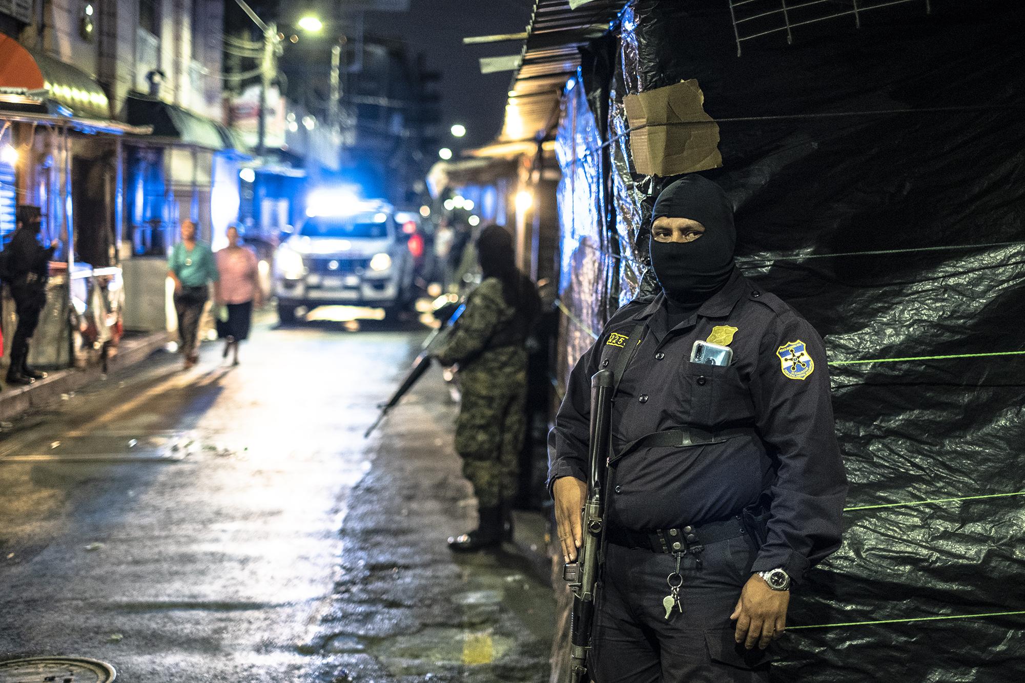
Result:
M657 242L650 237L651 267L671 303L695 308L726 286L733 274L733 205L723 189L700 175L687 175L662 191L651 220L690 218L705 228L693 242Z

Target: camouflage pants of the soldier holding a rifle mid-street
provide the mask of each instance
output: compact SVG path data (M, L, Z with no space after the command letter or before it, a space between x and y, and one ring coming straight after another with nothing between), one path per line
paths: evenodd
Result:
M512 389L514 393L498 396L462 394L455 449L482 508L499 506L516 495L527 429L527 388Z

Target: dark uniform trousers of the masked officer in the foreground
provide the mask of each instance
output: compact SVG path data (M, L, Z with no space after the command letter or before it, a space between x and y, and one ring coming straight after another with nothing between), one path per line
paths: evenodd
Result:
M730 620L755 553L748 536L738 536L705 546L700 568L684 555L683 611L665 618L673 556L610 543L590 650L596 683L768 681L772 646L744 649Z

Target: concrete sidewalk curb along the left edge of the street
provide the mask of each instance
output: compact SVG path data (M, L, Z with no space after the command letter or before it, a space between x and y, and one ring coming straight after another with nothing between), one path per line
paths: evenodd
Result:
M108 371L131 367L167 344L167 332L152 332L144 336L123 340L118 353L108 360ZM40 408L58 400L61 394L78 391L82 387L102 378L99 365L85 368L54 370L45 379L28 387L4 386L0 393L0 419L10 419L25 414L33 408ZM3 384L0 381L0 384Z

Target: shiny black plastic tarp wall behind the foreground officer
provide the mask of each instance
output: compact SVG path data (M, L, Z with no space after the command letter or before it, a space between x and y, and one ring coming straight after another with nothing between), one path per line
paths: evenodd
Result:
M742 268L825 339L848 505L892 506L846 512L842 550L793 596L790 626L817 628L782 641L779 681L1025 680L1025 614L991 615L1025 610L1025 7L925 5L738 57L727 2L637 2L614 68L564 97L567 364L641 292L671 180L631 172L622 97L696 78Z

